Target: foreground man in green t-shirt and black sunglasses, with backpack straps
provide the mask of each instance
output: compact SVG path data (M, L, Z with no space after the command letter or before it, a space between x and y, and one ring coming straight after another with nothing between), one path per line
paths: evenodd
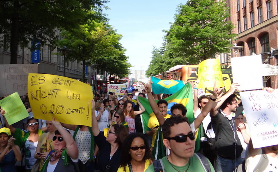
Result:
M211 163L203 156L194 153L195 134L192 132L187 118L181 116L171 116L162 125L163 144L170 149L170 155L154 161L146 172L154 172L154 166L161 168L165 172L182 171L212 171ZM203 165L207 163L208 165Z

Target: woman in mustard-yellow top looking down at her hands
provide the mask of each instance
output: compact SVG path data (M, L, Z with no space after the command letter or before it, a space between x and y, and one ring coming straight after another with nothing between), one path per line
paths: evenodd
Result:
M37 159L37 163L39 163L39 166L33 167L33 170L36 171L36 169L34 169L35 167L38 168L38 170L40 171L42 169L42 165L44 163L44 160L46 159L47 155L54 149L53 148L53 136L55 135L54 132L56 129L56 127L52 124L52 121L48 121L46 120L46 128L48 130L47 133L43 133L40 137L39 137L39 142L38 142L38 146L36 148L36 152L34 157Z

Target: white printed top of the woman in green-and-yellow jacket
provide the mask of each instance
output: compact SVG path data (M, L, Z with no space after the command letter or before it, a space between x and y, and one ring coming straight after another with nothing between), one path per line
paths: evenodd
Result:
M34 158L38 142L29 142L29 137L25 142L26 152L26 169L32 169L33 165L36 163L37 159Z

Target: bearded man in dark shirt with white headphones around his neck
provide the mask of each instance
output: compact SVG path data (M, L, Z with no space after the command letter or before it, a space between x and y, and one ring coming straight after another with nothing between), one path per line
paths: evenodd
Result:
M210 112L211 124L216 135L217 172L232 172L242 161L240 155L242 146L236 133L236 124L232 119L238 107L234 94L237 86L239 86L237 83L233 83L230 90L218 99L216 107Z

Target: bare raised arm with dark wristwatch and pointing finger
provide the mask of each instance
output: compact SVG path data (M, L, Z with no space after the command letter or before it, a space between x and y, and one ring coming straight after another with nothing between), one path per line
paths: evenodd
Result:
M216 83L214 83L213 95L210 96L208 103L205 105L201 113L197 116L197 118L194 121L195 130L201 125L202 121L205 119L210 110L212 110L212 107L215 104L215 101L213 101L212 99L217 99L217 96L219 95L220 91L221 89L216 88Z

